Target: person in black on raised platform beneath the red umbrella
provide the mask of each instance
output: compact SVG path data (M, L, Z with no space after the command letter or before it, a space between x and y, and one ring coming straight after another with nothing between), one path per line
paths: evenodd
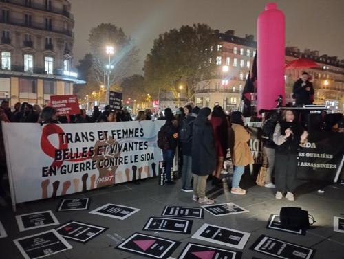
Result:
M312 96L314 95L314 88L308 78L310 75L303 72L302 76L294 83L292 93L294 93L295 103L299 106L312 104Z

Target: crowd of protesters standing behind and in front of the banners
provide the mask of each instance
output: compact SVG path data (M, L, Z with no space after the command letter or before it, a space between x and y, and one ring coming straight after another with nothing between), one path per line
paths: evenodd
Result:
M308 85L301 87L308 87ZM305 89L308 91L308 89ZM297 93L298 94L298 93ZM305 100L303 100L305 102ZM241 177L246 166L253 163L252 153L248 142L251 138L250 130L244 126L241 112L233 111L227 114L218 104L211 110L208 107L198 108L188 104L179 108L173 114L170 108L160 112L154 118L150 109L138 111L136 117L131 117L127 109L114 111L105 106L100 111L94 106L92 115L87 115L84 109L80 114L70 117L60 117L56 109L27 102L17 103L13 111L8 101L0 106L0 119L3 122L31 122L31 123L90 123L90 122L128 122L132 120L165 120L164 126L158 133L158 146L162 149L165 161L166 185L173 185L173 161L178 153L178 170L182 178L182 191L193 192L193 201L201 204L213 204L215 201L206 196L206 185L222 187L222 174L226 172L226 157L230 157L233 164L231 177L232 194L244 195L246 190L240 187ZM252 120L258 120L252 117ZM319 130L344 132L343 115L337 118L336 124L327 121L326 113L321 113ZM305 142L308 141L308 131L305 131L303 115L293 110L264 111L262 116L261 139L263 142L264 167L266 174L264 186L276 188L276 199L294 201L294 190L297 181L297 154ZM1 174L6 172L6 157L3 148L2 134L0 134ZM279 161L279 163L275 163ZM275 172L275 173L274 173ZM342 176L343 178L343 176ZM275 179L275 181L273 180ZM275 183L275 184L274 184ZM3 204L3 188L0 185L0 205Z

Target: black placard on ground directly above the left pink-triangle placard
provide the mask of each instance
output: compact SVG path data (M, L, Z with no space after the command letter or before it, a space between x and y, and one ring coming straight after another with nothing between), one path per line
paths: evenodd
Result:
M189 219L151 217L143 230L190 234L192 225Z

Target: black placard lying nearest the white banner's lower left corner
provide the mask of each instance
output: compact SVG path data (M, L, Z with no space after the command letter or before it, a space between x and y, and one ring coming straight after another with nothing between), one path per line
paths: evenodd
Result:
M19 231L60 224L51 210L17 215Z

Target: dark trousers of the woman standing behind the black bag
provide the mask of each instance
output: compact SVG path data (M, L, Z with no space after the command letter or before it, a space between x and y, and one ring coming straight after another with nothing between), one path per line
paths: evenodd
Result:
M293 192L297 185L297 154L276 153L276 161L277 192Z

